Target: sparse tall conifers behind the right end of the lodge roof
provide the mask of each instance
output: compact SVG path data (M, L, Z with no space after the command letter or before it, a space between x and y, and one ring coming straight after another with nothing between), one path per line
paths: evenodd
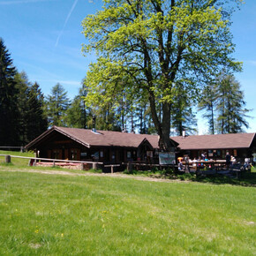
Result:
M212 134L244 132L243 127L248 128L245 118L250 110L245 109L244 93L229 73L221 72L203 90L199 109L205 111Z

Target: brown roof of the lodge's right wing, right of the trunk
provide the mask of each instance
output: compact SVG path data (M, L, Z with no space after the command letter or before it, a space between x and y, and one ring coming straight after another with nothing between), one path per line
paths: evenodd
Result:
M214 135L191 135L171 137L182 150L248 148L255 133L229 133Z

